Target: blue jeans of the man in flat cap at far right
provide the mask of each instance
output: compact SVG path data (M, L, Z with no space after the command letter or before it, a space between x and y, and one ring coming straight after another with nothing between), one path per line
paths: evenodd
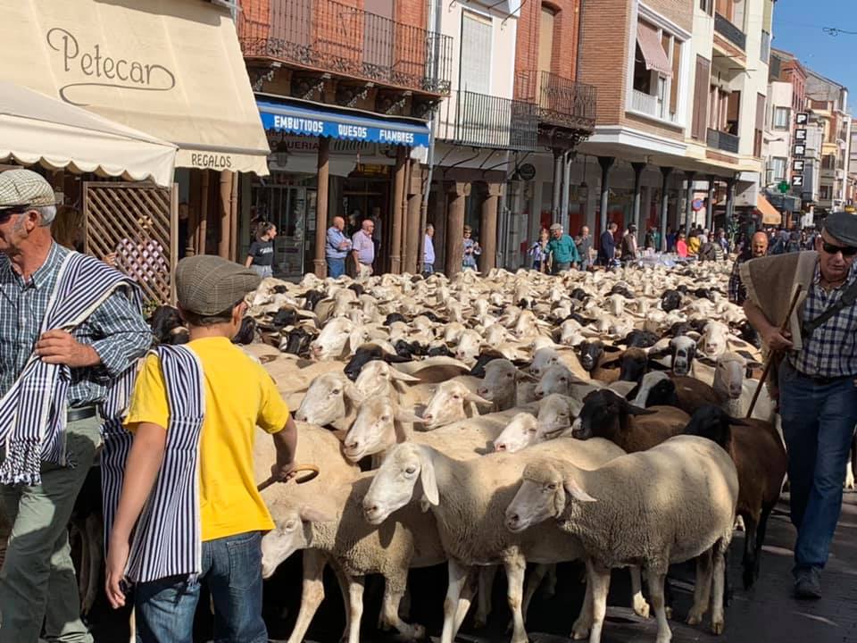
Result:
M788 450L795 571L824 567L842 511L842 481L857 424L853 378L822 383L779 369L780 415Z

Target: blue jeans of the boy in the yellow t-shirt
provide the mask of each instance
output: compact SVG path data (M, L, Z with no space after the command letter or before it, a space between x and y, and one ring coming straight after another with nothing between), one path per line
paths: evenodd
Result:
M216 643L268 643L262 621L262 534L203 543L203 571L214 603ZM137 643L193 643L199 580L172 577L134 589Z

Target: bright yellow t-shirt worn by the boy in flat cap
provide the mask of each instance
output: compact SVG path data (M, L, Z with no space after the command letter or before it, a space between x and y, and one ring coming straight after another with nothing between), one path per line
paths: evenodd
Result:
M205 380L205 418L199 442L200 516L203 540L274 528L256 491L253 441L258 424L269 433L286 426L288 407L270 375L228 338L196 339ZM148 355L137 376L125 426L169 426L161 362Z

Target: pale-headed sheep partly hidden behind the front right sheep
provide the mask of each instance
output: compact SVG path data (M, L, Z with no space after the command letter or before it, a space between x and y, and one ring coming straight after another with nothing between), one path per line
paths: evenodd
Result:
M465 580L473 565L503 564L508 578L508 601L512 609L512 643L524 643L522 595L528 561L557 563L576 560L580 549L562 538L553 526L526 534L503 529L504 511L526 464L549 453L595 468L621 455L620 448L603 441L595 445L561 438L518 454L491 454L458 461L436 449L412 442L395 447L372 480L363 499L366 519L380 524L408 504L431 507L437 530L449 559L449 586L444 603L441 643L452 643L457 630L455 616L466 610L470 597L462 597ZM462 603L460 603L462 600Z

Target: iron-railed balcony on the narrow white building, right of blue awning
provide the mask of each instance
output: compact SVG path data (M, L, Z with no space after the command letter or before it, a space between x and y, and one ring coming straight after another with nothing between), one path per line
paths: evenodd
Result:
M501 96L459 90L444 101L438 138L456 145L505 150L535 150L536 105Z

